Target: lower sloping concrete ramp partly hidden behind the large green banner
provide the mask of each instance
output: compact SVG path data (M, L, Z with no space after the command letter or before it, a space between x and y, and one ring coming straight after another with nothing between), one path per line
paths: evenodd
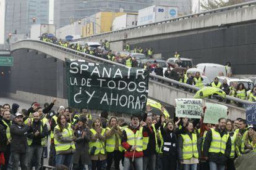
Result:
M12 87L12 91L10 92L11 97L14 97L16 99L27 99L30 101L37 101L39 103L45 103L51 100L52 97L58 97L59 104L61 105L67 105L67 97L65 95L66 89L65 89L65 81L66 81L66 74L65 74L65 69L64 69L64 59L69 58L69 59L85 59L90 62L97 62L97 63L111 63L111 64L116 64L114 62L111 62L109 60L101 59L99 57L95 57L92 55L87 55L83 54L82 52L77 52L72 49L67 49L66 47L58 46L56 44L51 44L49 42L43 42L43 41L33 41L33 40L23 40L16 42L15 44L12 44L11 47L12 55L14 57L14 67L11 69L11 86L14 86L13 83L16 83L17 79L17 74L22 73L22 68L20 63L22 60L23 62L32 62L35 60L40 60L40 63L44 63L44 60L48 59L54 59L57 60L56 67L56 79L57 81L49 81L49 83L53 84L45 84L45 86L55 86L56 88L56 94L54 95L45 95L45 91L47 91L47 87L41 87L42 89L39 92L31 92L33 87L28 87L28 89L22 90L22 87L19 86L14 86ZM27 52L27 54L23 54L24 59L22 60L19 59L20 55L22 52L24 53ZM30 52L33 52L33 56L30 57L28 54ZM43 55L43 57L38 57L36 55ZM26 61L26 59L28 61ZM15 62L17 60L17 62ZM20 62L19 62L20 61ZM52 61L53 62L53 61ZM60 65L60 67L59 67ZM121 65L124 67L123 65ZM55 66L54 66L55 67ZM45 68L43 66L40 66L40 68L35 67L34 70L32 71L38 71L42 69L43 71L40 72L42 74L42 77L45 78L48 75L44 75L45 71L48 70L48 65L45 65ZM54 74L54 71L51 72L51 74ZM12 75L13 74L13 75ZM27 76L24 74L21 74L19 76ZM149 82L149 91L148 91L148 97L151 97L153 99L159 100L164 103L168 103L169 105L175 105L175 100L177 98L192 98L194 94L184 91L182 89L177 89L174 86L168 86L168 83L174 83L174 84L179 84L180 86L186 86L191 89L197 89L197 87L190 86L187 84L182 84L177 81L168 79L168 78L162 78L160 76L156 75L150 75L151 78L160 78L163 79L164 83L160 83L158 81L150 80ZM13 80L12 80L13 78ZM34 81L34 79L28 79L28 81ZM46 78L46 81L48 79ZM33 83L33 82L26 82L28 84ZM32 88L32 89L31 89ZM240 100L240 99L235 99L233 97L228 97L228 99L232 99L235 101L239 101L242 103L249 103L246 100ZM220 103L217 102L216 100L213 99L205 99L204 102L213 102L213 103ZM235 119L237 117L242 117L245 118L245 110L244 108L239 108L236 105L229 105L226 103L221 103L223 105L226 105L229 108L229 118Z

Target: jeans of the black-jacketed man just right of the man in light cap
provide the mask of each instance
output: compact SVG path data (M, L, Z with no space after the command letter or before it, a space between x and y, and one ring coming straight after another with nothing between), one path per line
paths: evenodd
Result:
M43 155L43 147L31 146L28 147L28 169L32 169L32 162L35 160L35 169L41 168L41 156Z

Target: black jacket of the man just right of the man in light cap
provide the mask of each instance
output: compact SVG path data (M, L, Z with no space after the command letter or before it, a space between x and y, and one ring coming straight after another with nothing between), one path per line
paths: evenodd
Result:
M41 132L42 128L42 132ZM38 136L35 136L35 132L39 131L40 134ZM41 139L45 138L48 135L48 129L47 125L43 125L41 121L33 121L32 123L32 132L28 134L28 138L33 139L32 146L41 146Z

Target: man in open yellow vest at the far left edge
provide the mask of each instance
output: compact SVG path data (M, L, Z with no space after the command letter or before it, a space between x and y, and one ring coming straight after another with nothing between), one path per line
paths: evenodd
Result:
M7 147L6 147L6 152L4 152L4 159L6 160L6 164L2 166L2 169L7 169L9 158L11 155L11 134L10 134L10 127L12 124L11 121L11 113L10 111L4 111L2 115L2 123L6 125L6 136L7 136Z

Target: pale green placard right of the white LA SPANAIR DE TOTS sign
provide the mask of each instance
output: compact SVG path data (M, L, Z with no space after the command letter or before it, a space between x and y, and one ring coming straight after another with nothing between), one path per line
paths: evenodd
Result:
M218 119L226 118L228 107L215 103L205 103L205 106L203 123L218 124Z

